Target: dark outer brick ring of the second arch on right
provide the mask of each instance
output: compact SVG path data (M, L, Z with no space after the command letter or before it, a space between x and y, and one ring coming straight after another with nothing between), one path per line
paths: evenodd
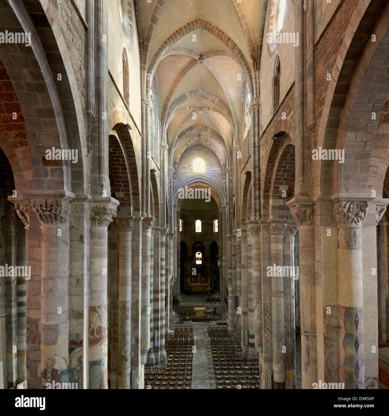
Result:
M286 120L283 120L286 121ZM277 130L275 130L277 131ZM273 186L273 175L275 173L275 168L278 164L280 159L280 155L282 154L283 149L288 145L291 144L294 146L294 141L287 134L285 131L278 131L278 139L277 140L270 140L271 143L268 148L268 157L266 160L265 168L261 169L261 183L263 186L261 187L262 192L262 208L261 212L263 213L263 218L270 218L270 199L272 196L272 186ZM264 173L262 173L264 171Z

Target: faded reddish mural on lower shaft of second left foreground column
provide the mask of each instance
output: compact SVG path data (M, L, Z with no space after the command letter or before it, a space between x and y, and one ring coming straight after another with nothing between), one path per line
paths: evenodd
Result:
M107 305L89 307L89 389L107 389Z

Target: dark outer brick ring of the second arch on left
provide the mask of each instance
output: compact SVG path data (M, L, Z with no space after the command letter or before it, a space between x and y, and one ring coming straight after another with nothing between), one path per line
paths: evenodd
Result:
M123 123L118 123L114 126L114 130L118 134L118 141L124 157L124 166L126 168L131 189L131 207L133 213L141 212L141 193L139 186L138 167L136 164L136 157L134 145L129 131ZM123 163L123 162L121 162Z

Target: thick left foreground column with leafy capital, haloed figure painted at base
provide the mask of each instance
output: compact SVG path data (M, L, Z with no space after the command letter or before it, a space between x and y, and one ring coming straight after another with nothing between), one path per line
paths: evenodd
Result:
M66 383L69 376L69 199L33 199L32 210L40 221L41 268L41 371L42 385ZM65 365L64 367L62 367Z

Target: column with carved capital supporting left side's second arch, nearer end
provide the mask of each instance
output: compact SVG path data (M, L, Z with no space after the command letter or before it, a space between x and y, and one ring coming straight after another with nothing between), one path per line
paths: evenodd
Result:
M116 220L119 233L118 387L131 388L131 240L134 218Z

